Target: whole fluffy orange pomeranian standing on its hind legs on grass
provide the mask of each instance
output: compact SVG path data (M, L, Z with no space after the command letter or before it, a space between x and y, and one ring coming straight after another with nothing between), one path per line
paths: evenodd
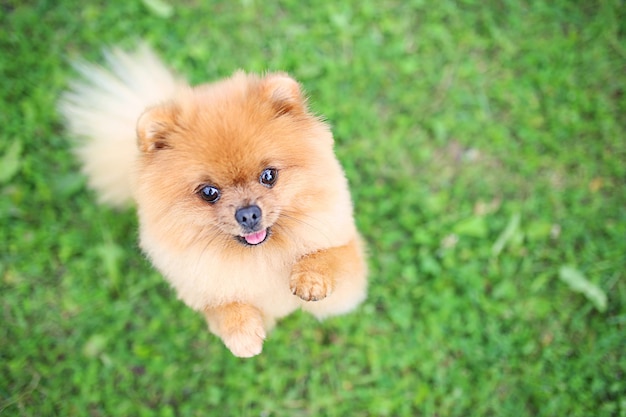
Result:
M195 87L151 50L112 50L59 103L99 201L134 201L140 247L239 357L277 319L366 295L364 247L326 123L283 73Z

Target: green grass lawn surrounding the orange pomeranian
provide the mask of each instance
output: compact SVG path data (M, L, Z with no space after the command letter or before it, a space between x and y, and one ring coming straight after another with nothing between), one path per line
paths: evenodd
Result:
M0 414L626 416L623 1L148 3L0 6ZM193 82L303 83L369 244L359 310L234 358L95 205L55 102L70 58L139 39Z

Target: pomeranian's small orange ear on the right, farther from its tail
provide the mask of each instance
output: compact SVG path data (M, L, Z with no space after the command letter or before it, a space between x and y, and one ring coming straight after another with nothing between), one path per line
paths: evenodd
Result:
M284 73L273 73L263 79L263 93L268 99L277 116L283 114L306 113L306 98L302 94L300 84Z

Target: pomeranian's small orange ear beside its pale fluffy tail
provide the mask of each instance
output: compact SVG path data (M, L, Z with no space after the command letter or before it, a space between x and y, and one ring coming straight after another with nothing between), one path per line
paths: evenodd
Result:
M170 147L169 136L176 127L177 109L164 104L146 110L137 121L137 140L141 152Z

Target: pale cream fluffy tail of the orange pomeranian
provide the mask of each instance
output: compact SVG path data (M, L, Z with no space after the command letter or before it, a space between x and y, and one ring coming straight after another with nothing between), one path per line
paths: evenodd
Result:
M130 53L105 51L105 57L106 68L73 63L82 79L70 84L58 108L78 139L75 151L98 200L122 207L133 197L137 119L184 83L146 45Z

